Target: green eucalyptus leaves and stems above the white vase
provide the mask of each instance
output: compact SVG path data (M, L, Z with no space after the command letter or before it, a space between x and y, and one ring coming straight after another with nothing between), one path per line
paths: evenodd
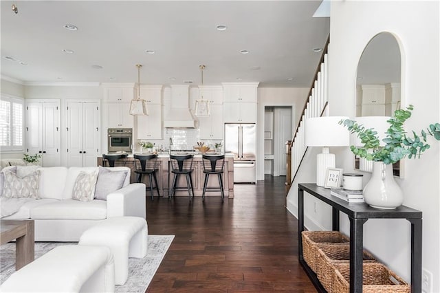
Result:
M382 141L385 146L380 146L377 131L366 129L362 124L353 120L341 120L339 124L347 127L351 133L356 133L364 146L350 146L351 151L360 158L369 161L384 162L393 164L408 155L408 158L420 158L421 153L429 149L426 143L428 135L440 140L440 124L430 124L425 130L420 131L420 135L411 131L411 135L406 135L404 122L411 117L412 105L406 110L399 109L394 112L394 116L387 120L390 127L386 131L386 138ZM371 150L371 151L369 151Z

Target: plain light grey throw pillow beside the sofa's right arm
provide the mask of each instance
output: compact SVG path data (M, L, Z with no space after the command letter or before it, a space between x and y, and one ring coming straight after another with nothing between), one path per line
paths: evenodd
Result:
M127 171L110 171L109 169L99 166L95 198L107 200L107 195L109 195L109 193L122 188L127 173Z

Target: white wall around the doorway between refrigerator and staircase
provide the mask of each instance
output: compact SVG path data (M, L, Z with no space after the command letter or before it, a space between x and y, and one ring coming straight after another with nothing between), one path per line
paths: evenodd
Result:
M292 107L292 129L296 129L309 89L304 87L259 87L256 125L256 180L264 180L264 108L266 106ZM275 130L276 131L276 130ZM293 134L293 133L292 133Z

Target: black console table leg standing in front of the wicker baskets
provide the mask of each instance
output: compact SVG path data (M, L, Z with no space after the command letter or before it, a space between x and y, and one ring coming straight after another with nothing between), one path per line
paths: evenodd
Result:
M367 219L350 217L350 293L362 292L364 223Z

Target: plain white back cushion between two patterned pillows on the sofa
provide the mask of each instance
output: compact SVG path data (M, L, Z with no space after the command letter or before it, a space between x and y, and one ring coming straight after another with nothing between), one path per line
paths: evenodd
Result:
M40 197L63 199L63 191L66 184L66 167L44 167L39 168L40 178Z

